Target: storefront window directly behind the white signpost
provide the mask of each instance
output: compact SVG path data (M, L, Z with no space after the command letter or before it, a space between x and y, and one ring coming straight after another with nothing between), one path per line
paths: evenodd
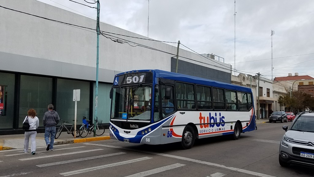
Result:
M73 123L75 101L73 90L80 89L80 101L77 102L77 124L82 124L83 116L89 117L89 82L67 79L57 80L57 112L60 119ZM109 94L108 94L109 95Z

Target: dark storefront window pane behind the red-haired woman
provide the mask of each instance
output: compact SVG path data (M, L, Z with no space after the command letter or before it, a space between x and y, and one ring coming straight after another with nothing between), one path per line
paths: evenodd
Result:
M35 109L39 118L39 126L43 126L42 119L47 106L52 103L52 78L21 75L19 101L19 127L29 109Z

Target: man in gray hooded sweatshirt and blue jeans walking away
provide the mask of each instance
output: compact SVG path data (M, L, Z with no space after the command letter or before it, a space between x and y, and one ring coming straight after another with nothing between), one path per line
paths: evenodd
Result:
M46 127L45 130L45 141L46 141L46 151L53 150L53 142L56 135L56 125L60 122L59 115L56 111L53 111L53 105L48 105L48 111L45 112L44 118L42 120L43 125ZM50 141L49 141L50 136Z

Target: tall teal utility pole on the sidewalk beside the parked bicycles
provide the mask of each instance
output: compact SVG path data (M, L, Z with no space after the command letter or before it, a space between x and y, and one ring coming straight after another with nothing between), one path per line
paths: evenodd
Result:
M96 93L95 93L95 116L94 116L94 137L96 136L96 118L97 118L97 101L98 101L98 70L99 70L99 11L100 11L100 4L99 0L97 0L97 24L96 24L96 31L97 31L97 59L96 59Z

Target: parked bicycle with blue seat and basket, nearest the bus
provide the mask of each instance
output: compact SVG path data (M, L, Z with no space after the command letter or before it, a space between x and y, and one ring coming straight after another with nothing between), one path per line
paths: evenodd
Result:
M101 120L100 120L101 121ZM94 132L94 125L90 124L90 121L86 120L86 117L83 116L82 126L79 128L79 135L84 138L88 134ZM105 133L105 128L101 125L98 125L98 118L96 117L96 135L102 135Z

